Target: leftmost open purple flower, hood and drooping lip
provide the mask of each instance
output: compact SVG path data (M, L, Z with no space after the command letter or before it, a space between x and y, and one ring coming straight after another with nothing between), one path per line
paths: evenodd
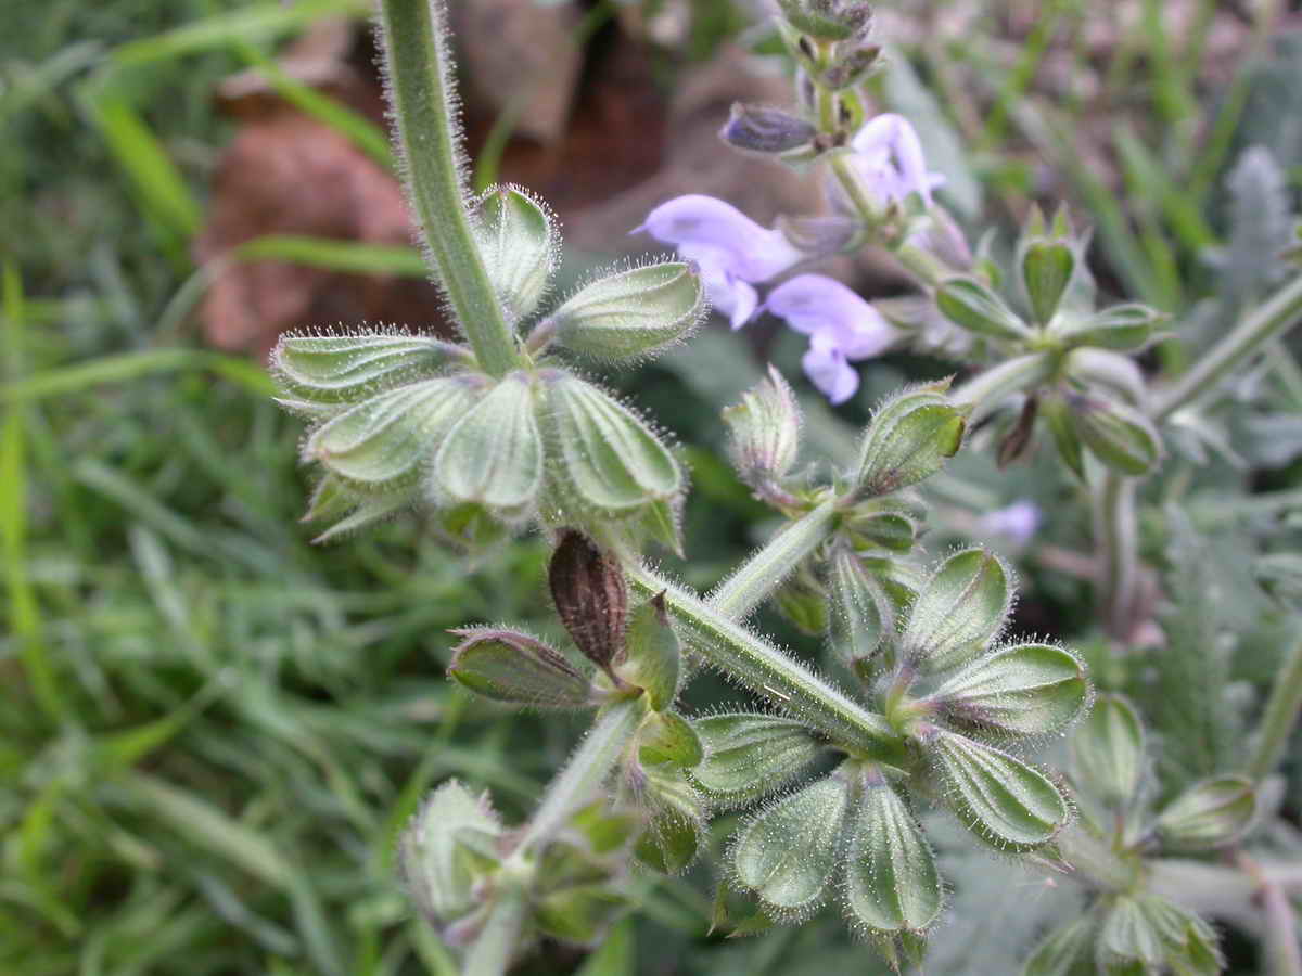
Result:
M633 233L639 230L697 263L711 303L734 329L759 307L751 284L767 281L805 256L780 230L767 230L730 203L702 194L661 203Z

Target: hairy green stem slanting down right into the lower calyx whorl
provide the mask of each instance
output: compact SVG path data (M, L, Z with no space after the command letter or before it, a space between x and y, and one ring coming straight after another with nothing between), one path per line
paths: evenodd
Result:
M838 744L898 761L902 744L883 716L764 643L716 608L639 565L625 567L644 596L664 592L673 616L687 626L693 648L727 677L822 730Z

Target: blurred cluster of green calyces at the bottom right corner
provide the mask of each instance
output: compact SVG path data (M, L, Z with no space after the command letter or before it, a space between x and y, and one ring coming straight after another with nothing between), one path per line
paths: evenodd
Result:
M1150 890L1146 863L1233 842L1253 825L1256 791L1245 777L1219 776L1155 802L1157 791L1146 777L1150 761L1134 707L1120 696L1100 696L1072 737L1081 817L1059 842L1078 868L1087 902L1044 936L1023 976L1223 971L1212 927Z

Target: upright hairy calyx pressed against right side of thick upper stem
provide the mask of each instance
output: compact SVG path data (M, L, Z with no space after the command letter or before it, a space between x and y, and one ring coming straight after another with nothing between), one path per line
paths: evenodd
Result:
M470 216L503 311L519 321L538 307L556 268L561 250L556 219L518 186L490 187L471 203Z

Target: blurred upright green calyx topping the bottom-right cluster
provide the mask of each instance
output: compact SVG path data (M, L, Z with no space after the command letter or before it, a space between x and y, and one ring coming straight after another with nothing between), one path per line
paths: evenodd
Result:
M1144 770L1143 725L1120 695L1100 695L1072 735L1073 777L1109 808L1128 806Z

